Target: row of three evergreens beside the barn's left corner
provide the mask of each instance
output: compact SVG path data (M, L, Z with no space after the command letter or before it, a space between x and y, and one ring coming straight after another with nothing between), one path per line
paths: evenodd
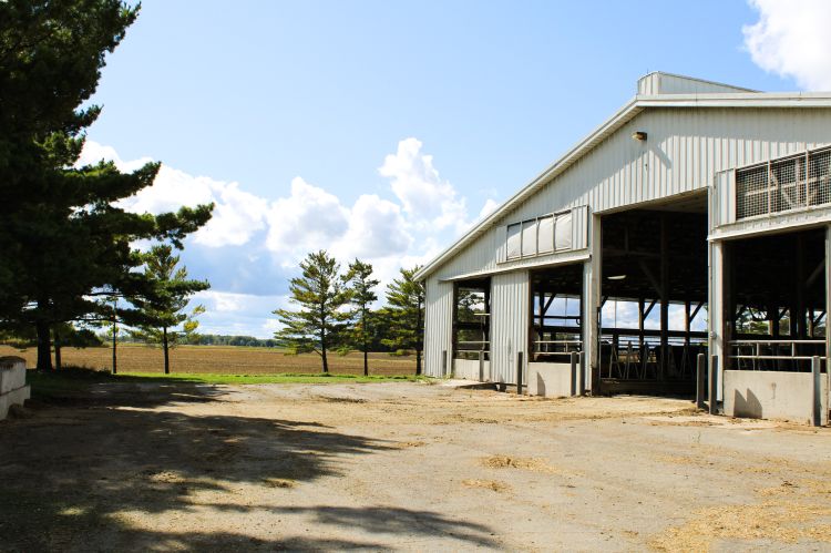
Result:
M419 267L401 269L387 287L387 305L378 300L372 266L355 259L341 272L326 250L309 254L300 263L301 275L289 285L290 309L274 311L283 324L275 337L296 352L315 351L324 372L328 354L337 349L363 352L363 373L369 375L368 354L379 342L391 349L416 350L416 373L421 375L424 285L413 276Z

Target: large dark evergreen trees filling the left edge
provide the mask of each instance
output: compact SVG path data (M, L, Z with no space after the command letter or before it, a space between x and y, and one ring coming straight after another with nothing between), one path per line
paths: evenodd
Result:
M158 163L76 166L101 113L83 105L137 13L120 0L0 2L0 331L32 332L42 370L53 337L81 338L78 324L166 335L181 301L207 287L171 267L212 205L131 213L119 202L150 186ZM141 252L140 240L160 245Z

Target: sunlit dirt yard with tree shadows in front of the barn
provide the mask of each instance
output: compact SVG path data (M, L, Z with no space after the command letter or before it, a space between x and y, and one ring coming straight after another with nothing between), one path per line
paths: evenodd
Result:
M96 385L0 422L0 550L831 550L831 430L439 385Z

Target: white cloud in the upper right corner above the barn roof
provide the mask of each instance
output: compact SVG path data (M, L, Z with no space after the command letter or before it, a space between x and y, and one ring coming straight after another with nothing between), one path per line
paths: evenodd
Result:
M831 90L831 2L750 0L759 21L742 28L753 63L813 91Z

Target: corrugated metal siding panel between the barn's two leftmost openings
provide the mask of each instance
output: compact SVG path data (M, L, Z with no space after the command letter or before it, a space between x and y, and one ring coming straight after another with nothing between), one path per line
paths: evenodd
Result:
M516 354L527 370L529 274L525 270L491 278L491 379L516 383ZM523 377L524 381L527 378Z

